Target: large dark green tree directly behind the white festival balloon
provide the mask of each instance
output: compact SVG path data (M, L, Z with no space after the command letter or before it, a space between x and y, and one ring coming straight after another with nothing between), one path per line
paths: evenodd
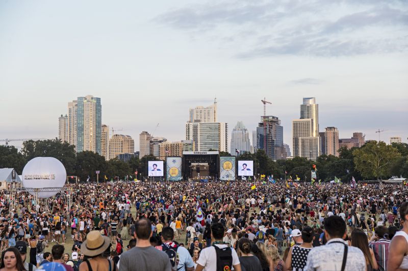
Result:
M60 139L25 141L21 153L27 161L35 157L54 157L62 162L68 175L74 173L75 146Z

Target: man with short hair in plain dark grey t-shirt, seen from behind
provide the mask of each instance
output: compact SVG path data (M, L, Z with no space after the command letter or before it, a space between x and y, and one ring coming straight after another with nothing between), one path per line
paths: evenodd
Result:
M139 219L135 226L136 247L120 256L119 270L171 271L168 255L150 245L152 236L150 221L144 218ZM85 252L84 254L86 255Z

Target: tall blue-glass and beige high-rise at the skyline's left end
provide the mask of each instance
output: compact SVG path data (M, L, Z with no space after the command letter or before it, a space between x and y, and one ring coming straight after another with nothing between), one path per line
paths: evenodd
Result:
M102 107L100 98L87 95L68 102L66 141L77 152L93 151L101 154Z

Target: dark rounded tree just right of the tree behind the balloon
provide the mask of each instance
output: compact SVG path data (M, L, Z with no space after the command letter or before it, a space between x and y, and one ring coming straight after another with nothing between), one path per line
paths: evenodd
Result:
M99 181L104 181L107 174L107 164L104 156L100 156L92 151L82 151L77 153L77 164L75 165L75 175L77 175L81 181L88 179L88 176L92 181L96 181L95 171L100 171Z

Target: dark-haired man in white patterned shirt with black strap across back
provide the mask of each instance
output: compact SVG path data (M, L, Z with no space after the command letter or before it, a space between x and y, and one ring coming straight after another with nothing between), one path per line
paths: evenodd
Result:
M359 248L349 247L343 240L346 237L346 223L337 215L324 220L324 246L312 249L304 270L346 270L365 271L366 260Z

